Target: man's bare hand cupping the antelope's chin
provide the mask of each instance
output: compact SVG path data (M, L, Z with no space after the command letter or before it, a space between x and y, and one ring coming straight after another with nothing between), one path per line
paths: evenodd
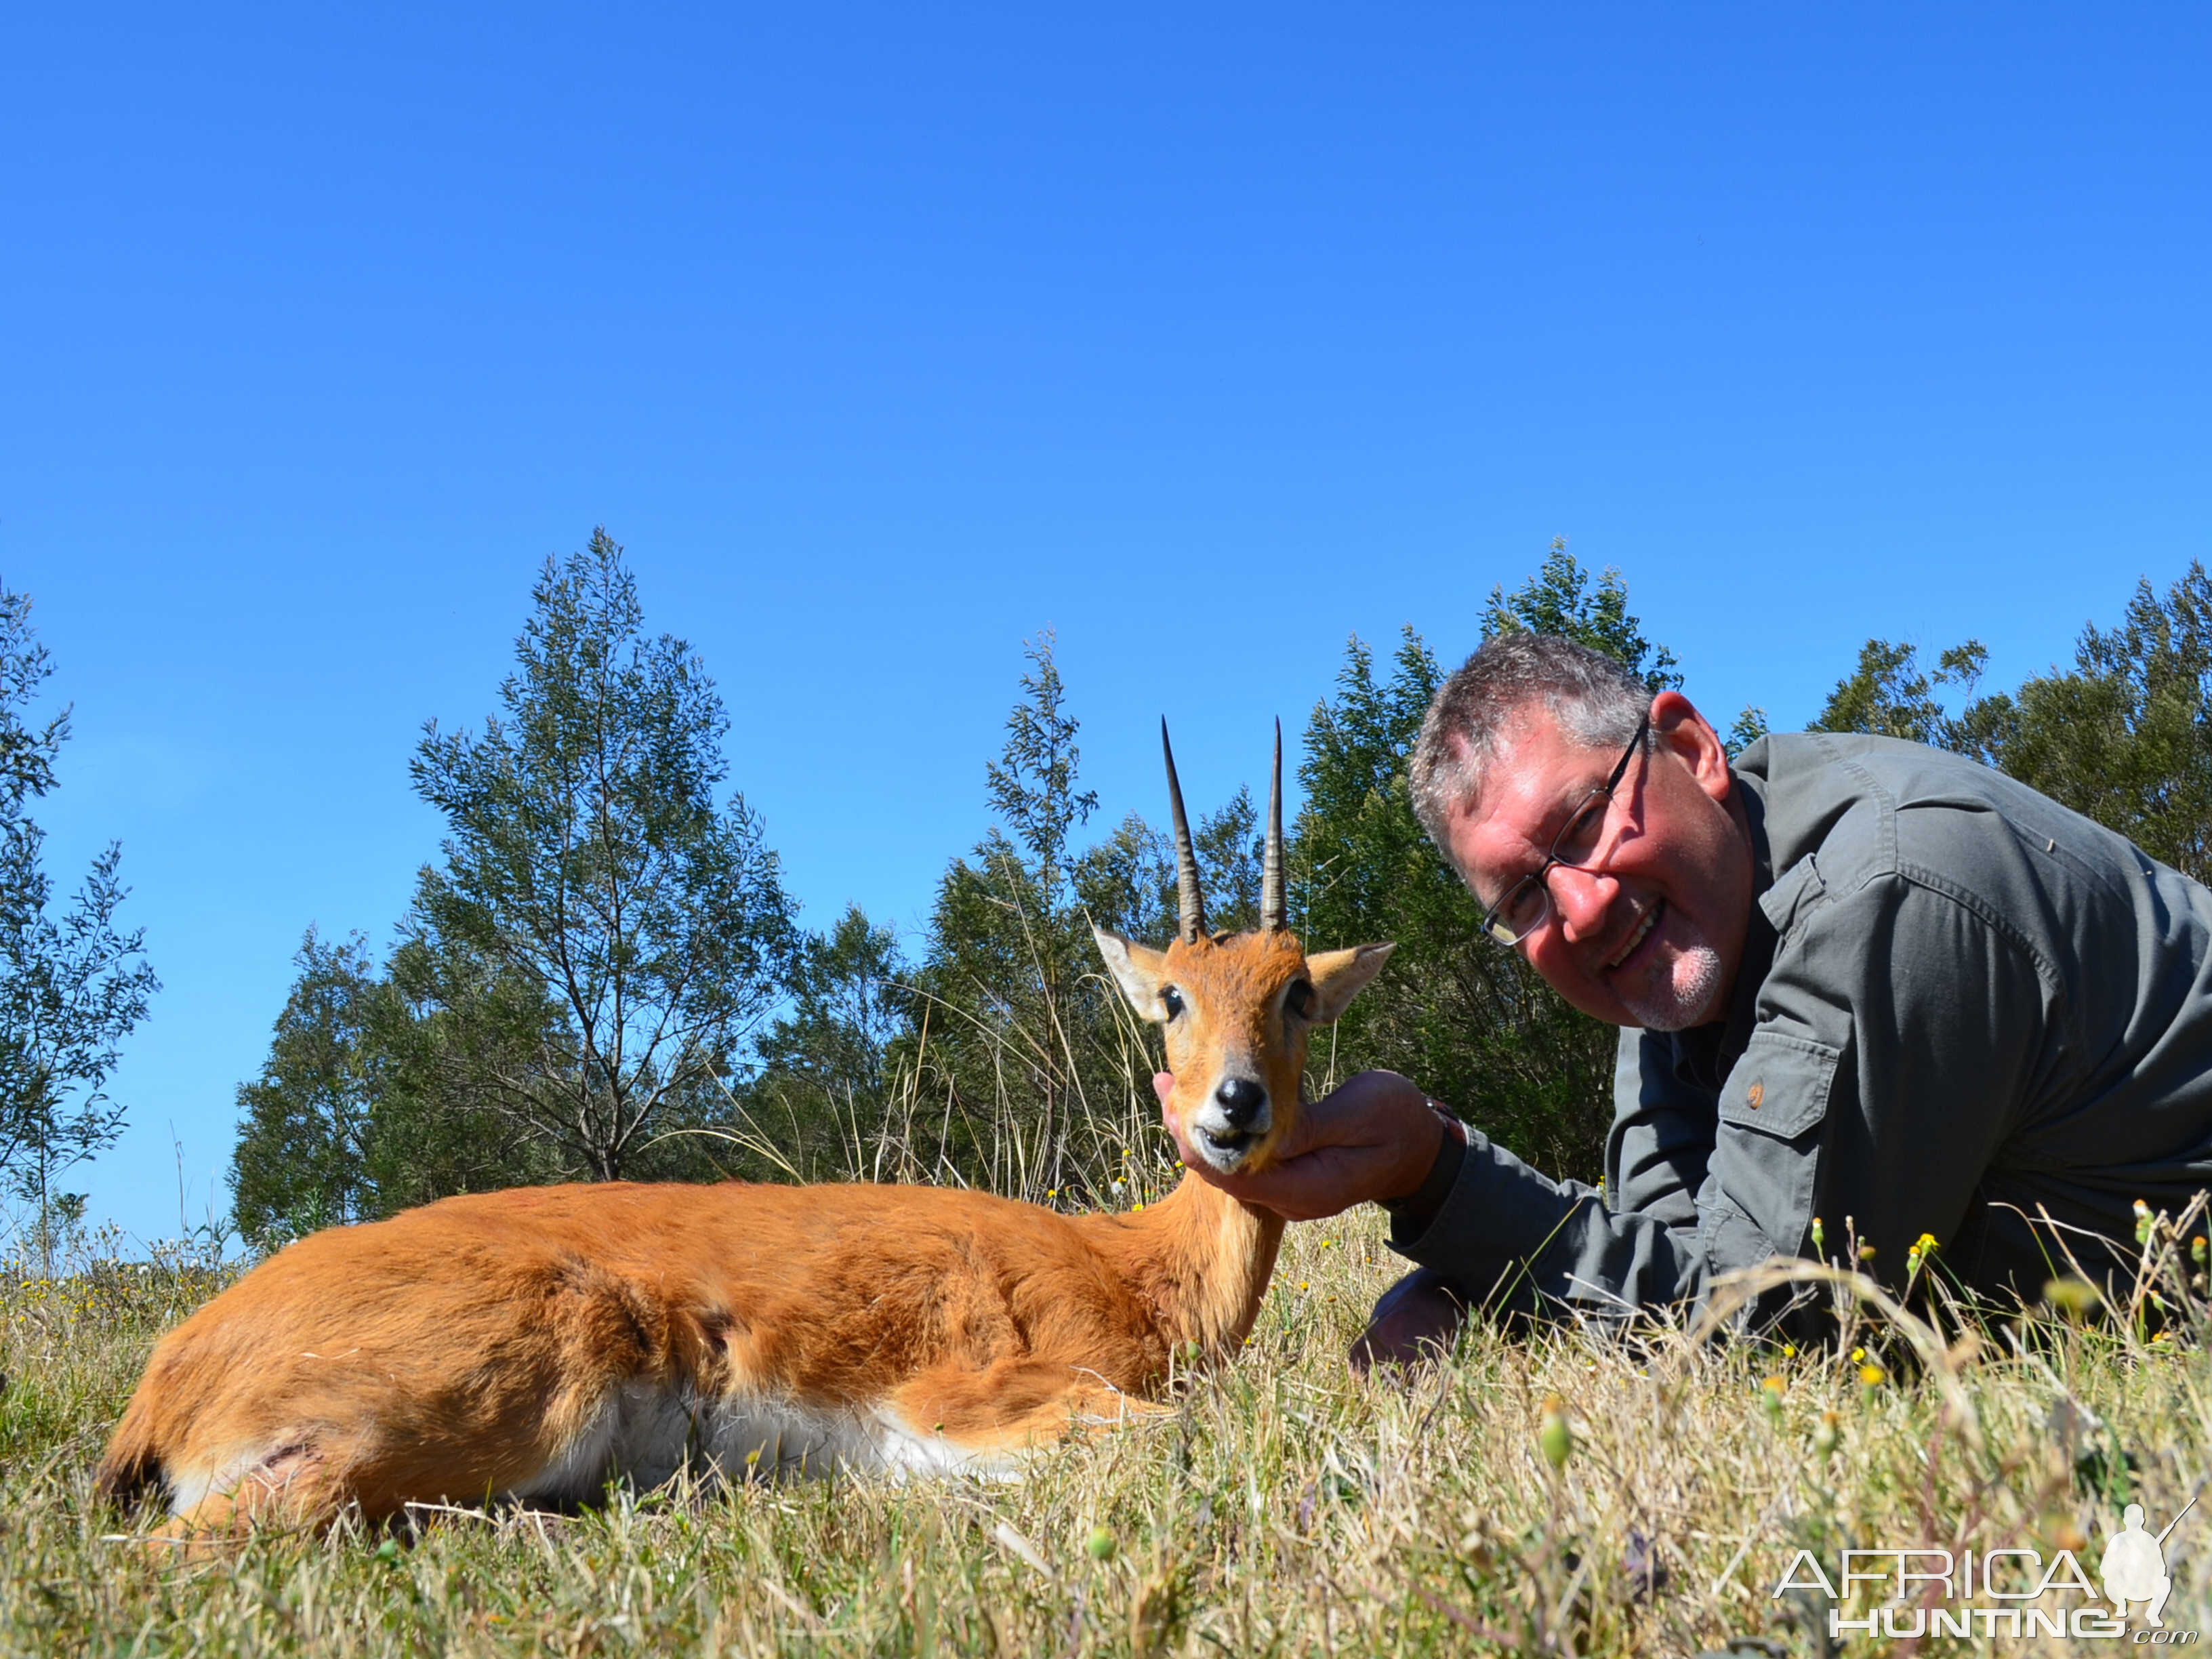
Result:
M1175 1073L1157 1073L1161 1117L1175 1093ZM1168 1119L1175 1135L1175 1121ZM1232 1199L1274 1210L1285 1221L1318 1221L1354 1203L1411 1197L1444 1146L1444 1119L1411 1079L1394 1071L1363 1071L1343 1088L1298 1108L1298 1121L1259 1175L1221 1175L1175 1139L1203 1181Z

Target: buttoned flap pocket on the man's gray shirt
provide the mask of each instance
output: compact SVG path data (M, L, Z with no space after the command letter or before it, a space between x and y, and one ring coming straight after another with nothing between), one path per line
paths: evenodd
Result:
M1825 1042L1756 1031L1721 1084L1721 1121L1699 1192L1717 1270L1805 1248L1838 1060L1843 1051Z

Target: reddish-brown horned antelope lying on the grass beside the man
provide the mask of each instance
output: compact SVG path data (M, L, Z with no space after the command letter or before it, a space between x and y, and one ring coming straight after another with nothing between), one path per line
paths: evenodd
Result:
M1104 929L1166 1026L1166 1110L1219 1170L1298 1115L1307 1031L1389 945L1285 929L1276 728L1261 925L1212 936L1168 761L1179 938ZM681 1467L998 1471L1077 1425L1164 1409L1170 1356L1259 1314L1281 1217L1197 1175L1135 1214L920 1186L553 1186L330 1228L155 1347L100 1467L168 1533L376 1522L409 1502L595 1498ZM1194 1345L1194 1349L1190 1347Z

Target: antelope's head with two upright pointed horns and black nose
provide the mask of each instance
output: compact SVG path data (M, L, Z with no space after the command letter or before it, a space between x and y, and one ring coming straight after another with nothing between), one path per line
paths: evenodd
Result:
M1175 872L1181 927L1164 951L1130 945L1093 927L1099 956L1121 995L1166 1026L1175 1095L1168 1115L1181 1139L1223 1175L1261 1170L1298 1121L1305 1042L1314 1026L1345 1011L1380 971L1391 945L1354 945L1307 956L1283 925L1283 723L1274 728L1274 783L1267 787L1267 849L1261 867L1259 929L1208 933L1199 858L1175 779L1168 723L1168 807L1175 814Z

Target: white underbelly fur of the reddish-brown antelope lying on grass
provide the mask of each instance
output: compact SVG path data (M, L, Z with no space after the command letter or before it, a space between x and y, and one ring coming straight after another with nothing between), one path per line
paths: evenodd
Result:
M971 1455L938 1433L916 1433L889 1409L825 1409L768 1394L699 1400L688 1389L626 1385L568 1449L509 1498L588 1500L608 1480L650 1489L699 1475L825 1475L832 1469L949 1475L1011 1473L1011 1453Z

